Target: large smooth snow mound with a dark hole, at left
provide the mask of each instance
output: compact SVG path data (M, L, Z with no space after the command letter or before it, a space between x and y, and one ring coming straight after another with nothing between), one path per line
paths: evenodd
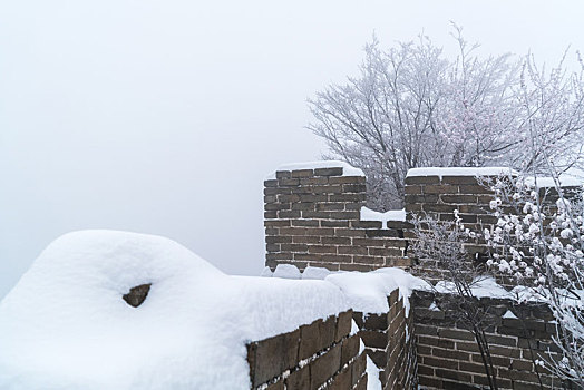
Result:
M228 276L167 238L70 233L0 302L0 388L249 389L246 342L347 309L325 281Z

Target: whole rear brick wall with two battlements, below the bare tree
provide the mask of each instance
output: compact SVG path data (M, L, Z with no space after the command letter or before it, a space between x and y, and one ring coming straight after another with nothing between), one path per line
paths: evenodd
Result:
M440 175L427 173L406 177L408 221L415 214L454 221L454 211L458 209L465 226L473 231L496 223L496 217L489 215L494 194L474 176L460 175L456 169L441 169ZM343 176L342 167L279 170L264 185L266 265L272 271L280 263L300 270L311 265L332 271L399 266L431 281L444 279L438 261L420 264L413 259L416 236L409 222L389 221L388 228L381 228L381 222L360 220L366 204L364 176ZM564 188L568 195L576 189ZM547 201L555 198L555 191L547 191ZM480 244L465 246L469 259L486 252Z

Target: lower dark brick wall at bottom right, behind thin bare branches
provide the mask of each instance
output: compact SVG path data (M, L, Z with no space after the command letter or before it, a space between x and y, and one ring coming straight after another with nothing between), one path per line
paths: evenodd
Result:
M419 383L426 389L478 389L488 386L483 360L473 333L456 314L440 308L444 295L415 292L411 305L415 318L418 353ZM434 305L432 305L434 303ZM562 382L533 360L557 351L552 342L555 324L545 304L517 304L510 300L481 298L477 300L486 312L487 330L493 363L499 389L561 388ZM510 311L517 318L503 318Z

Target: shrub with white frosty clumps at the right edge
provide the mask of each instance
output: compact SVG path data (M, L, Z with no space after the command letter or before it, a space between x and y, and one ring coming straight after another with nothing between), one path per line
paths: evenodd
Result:
M518 299L552 309L561 355L538 363L584 388L584 198L567 194L557 175L551 179L547 191L525 176L487 183L498 222L480 234L491 252L487 265L523 286Z

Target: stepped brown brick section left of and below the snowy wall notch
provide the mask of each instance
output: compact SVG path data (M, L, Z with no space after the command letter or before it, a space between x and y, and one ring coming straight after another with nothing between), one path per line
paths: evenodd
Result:
M366 178L343 168L276 172L264 182L266 265L370 271L411 264L405 222L360 221Z

